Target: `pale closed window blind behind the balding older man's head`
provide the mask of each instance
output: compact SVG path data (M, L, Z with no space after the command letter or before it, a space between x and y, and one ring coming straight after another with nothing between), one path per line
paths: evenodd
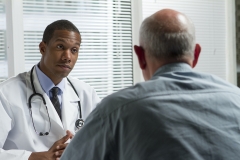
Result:
M195 70L226 79L226 0L142 0L143 18L171 8L185 13L195 24L196 42L202 47Z

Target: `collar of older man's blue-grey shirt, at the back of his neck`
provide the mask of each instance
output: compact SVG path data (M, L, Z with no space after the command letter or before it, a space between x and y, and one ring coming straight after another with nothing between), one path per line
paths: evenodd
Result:
M161 66L154 74L152 79L154 79L156 76L159 76L163 73L167 72L186 72L186 71L192 71L192 67L187 63L170 63L166 64L164 66Z

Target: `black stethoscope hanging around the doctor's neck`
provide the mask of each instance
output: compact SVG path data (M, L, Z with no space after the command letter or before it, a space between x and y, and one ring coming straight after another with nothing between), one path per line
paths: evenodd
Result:
M31 118L32 118L32 124L33 124L33 128L35 130L35 132L39 135L39 136L47 136L49 133L50 133L50 130L51 130L51 120L50 120L50 116L49 116L49 113L48 113L48 108L47 108L47 105L46 105L46 101L45 101L45 98L43 97L42 94L40 93L37 93L36 90L35 90L35 87L34 87L34 84L33 84L33 69L34 69L34 66L32 67L31 69L31 73L30 73L30 80L31 80L31 86L32 86L32 89L33 89L33 94L29 97L28 99L28 104L29 104L29 112L30 112L30 115L31 115ZM70 85L72 86L74 92L76 93L76 95L78 96L78 93L76 91L76 89L74 88L73 84L71 83L71 81L67 78L68 82L70 83ZM32 116L32 105L31 105L31 100L34 96L39 96L41 97L42 101L43 101L43 104L45 105L45 108L47 110L47 115L48 115L48 121L49 121L49 129L48 129L48 132L38 132L36 130L36 127L34 125L34 121L33 121L33 116ZM78 96L79 97L79 96ZM78 131L79 129L81 129L81 127L84 125L84 120L82 118L82 111L81 111L81 103L80 101L78 101L78 108L79 108L79 118L76 120L75 122L75 131Z

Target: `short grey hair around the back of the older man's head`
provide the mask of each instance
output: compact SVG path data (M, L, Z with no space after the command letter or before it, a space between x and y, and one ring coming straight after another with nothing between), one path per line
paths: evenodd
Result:
M195 28L189 20L187 29L178 32L166 31L169 24L153 17L146 18L140 28L140 45L150 57L157 59L194 58Z

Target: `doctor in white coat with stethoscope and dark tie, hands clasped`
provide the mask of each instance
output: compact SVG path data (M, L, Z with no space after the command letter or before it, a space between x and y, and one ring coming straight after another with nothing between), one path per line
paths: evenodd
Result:
M68 77L81 35L58 20L44 31L40 63L0 84L0 159L59 159L100 101L86 83Z

